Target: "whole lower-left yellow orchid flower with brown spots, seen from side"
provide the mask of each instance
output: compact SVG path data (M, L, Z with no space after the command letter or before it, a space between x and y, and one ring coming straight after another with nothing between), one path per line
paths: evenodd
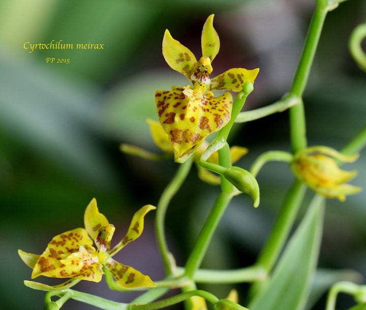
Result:
M102 268L105 266L122 287L155 287L149 276L112 258L126 244L141 235L144 216L152 209L155 207L146 205L138 210L126 236L110 250L115 228L99 212L97 201L93 199L84 213L85 229L76 228L55 236L39 257L22 251L19 251L19 255L28 266L33 267L32 278L44 275L100 282L104 274ZM93 246L93 239L97 249ZM29 258L37 257L35 264L29 264Z

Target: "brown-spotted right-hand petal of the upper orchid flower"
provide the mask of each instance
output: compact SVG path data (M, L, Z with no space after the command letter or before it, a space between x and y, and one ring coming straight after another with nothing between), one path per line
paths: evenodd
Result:
M247 70L233 68L211 79L211 90L227 89L241 91L241 85L247 81L254 82L259 69Z

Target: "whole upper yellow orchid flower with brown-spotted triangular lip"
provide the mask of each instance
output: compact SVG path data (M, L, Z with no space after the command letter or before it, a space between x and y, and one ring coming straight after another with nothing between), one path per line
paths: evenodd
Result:
M225 92L215 97L211 90L241 91L242 84L253 82L259 69L230 69L210 79L212 60L220 49L219 36L213 26L214 14L203 25L202 57L195 55L184 45L174 40L169 30L163 38L163 56L167 64L184 74L193 84L173 86L171 90L157 90L155 103L159 121L169 136L175 161L185 162L212 132L223 128L231 118L232 95Z

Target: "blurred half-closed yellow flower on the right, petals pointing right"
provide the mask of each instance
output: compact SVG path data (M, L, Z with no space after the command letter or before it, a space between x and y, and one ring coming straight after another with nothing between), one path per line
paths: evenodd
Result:
M345 183L354 178L357 171L340 169L335 159L352 163L357 158L357 154L345 156L330 147L313 146L295 154L291 169L317 194L344 201L346 195L357 194L361 188Z

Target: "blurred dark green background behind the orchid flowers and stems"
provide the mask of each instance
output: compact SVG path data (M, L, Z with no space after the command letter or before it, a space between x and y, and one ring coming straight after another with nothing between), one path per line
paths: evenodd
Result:
M83 226L83 212L96 197L99 209L126 233L132 214L157 204L177 164L150 163L119 152L121 142L159 151L147 117L157 119L156 89L185 85L161 54L165 28L200 57L202 25L215 13L221 50L216 76L232 67L260 68L246 109L270 104L288 90L315 8L313 0L1 0L0 1L0 300L4 309L41 309L44 292L23 285L31 269L17 250L40 254L50 239ZM366 2L349 0L328 14L306 90L309 144L341 148L363 126L366 74L349 55L352 29L366 18ZM29 50L25 42L101 43L104 49ZM70 64L47 64L47 57ZM289 150L287 112L236 127L232 142L249 147L238 165L248 169L270 149ZM349 169L366 189L366 152ZM258 175L261 204L236 197L225 213L203 266L252 264L276 216L292 175L271 163ZM167 214L168 240L183 264L218 189L202 183L195 168ZM312 193L309 192L309 198ZM306 205L304 205L306 207ZM319 267L366 269L366 191L345 203L329 200ZM154 212L144 234L118 254L153 280L164 272L154 236ZM300 267L300 266L299 266ZM328 274L329 275L329 274ZM339 276L336 274L335 276ZM37 281L56 284L45 278ZM58 283L58 282L57 282ZM246 285L203 287L218 297ZM76 289L116 301L136 296L110 292L104 281ZM351 300L342 300L344 308ZM66 309L93 309L69 301ZM324 308L324 298L313 309ZM177 307L178 308L178 307ZM291 310L291 309L284 309Z

